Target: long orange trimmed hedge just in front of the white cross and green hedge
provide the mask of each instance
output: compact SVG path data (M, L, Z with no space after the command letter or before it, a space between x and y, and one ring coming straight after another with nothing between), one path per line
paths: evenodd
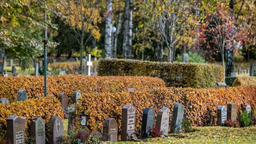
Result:
M20 89L26 90L28 98L43 96L44 76L0 77L0 87L0 98L8 98L10 102L16 101ZM94 91L121 92L126 88L140 91L152 87L165 87L165 82L146 76L47 76L47 95L57 97L60 93L65 93L70 102L73 91L80 91L84 95Z

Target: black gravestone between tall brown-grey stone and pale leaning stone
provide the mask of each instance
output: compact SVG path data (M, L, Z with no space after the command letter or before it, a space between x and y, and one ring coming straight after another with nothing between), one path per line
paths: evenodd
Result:
M142 114L142 126L141 126L141 134L142 137L149 136L149 129L152 129L155 121L155 111L151 107L146 107L143 110Z

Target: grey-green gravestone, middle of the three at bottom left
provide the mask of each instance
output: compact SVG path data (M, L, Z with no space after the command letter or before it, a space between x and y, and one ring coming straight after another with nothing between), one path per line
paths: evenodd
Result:
M33 118L30 125L30 133L35 144L45 144L45 122L42 118Z

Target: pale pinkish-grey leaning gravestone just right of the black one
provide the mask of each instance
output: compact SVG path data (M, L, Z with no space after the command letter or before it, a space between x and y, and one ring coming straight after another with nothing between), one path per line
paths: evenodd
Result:
M168 107L162 107L162 109L158 110L155 127L162 130L163 135L165 136L168 135L169 117L170 117L170 110Z

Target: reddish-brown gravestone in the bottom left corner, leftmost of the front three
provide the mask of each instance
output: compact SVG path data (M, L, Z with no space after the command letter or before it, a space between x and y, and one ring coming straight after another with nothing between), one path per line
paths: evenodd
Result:
M11 115L7 118L7 140L11 144L25 144L25 117Z

